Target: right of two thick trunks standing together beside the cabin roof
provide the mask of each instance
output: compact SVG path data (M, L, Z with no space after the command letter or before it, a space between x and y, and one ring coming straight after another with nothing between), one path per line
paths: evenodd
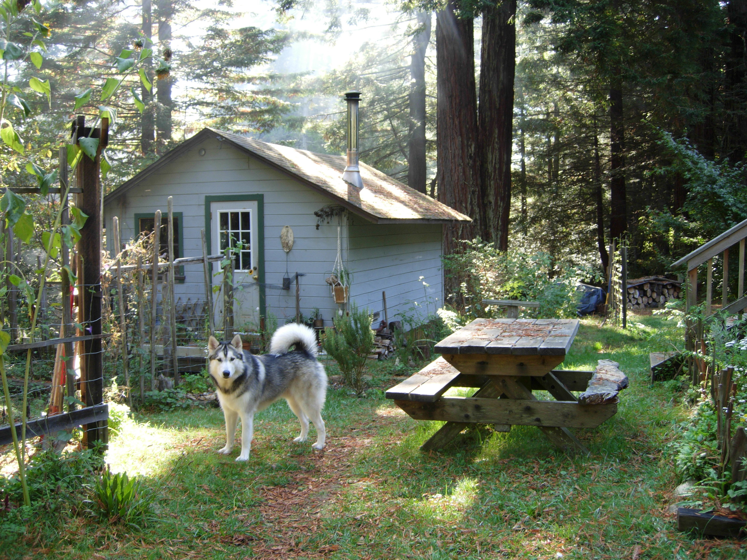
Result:
M480 50L480 206L477 234L508 249L516 67L516 0L483 10Z

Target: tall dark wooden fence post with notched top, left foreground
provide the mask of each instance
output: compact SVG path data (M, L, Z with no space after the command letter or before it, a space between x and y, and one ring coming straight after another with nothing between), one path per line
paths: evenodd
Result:
M82 137L99 138L96 157L81 157L78 163L78 184L83 192L76 197L76 206L87 214L86 223L81 228L81 239L78 241L78 323L91 335L98 335L92 340L82 342L81 353L81 400L86 406L99 405L104 399L104 372L102 362L102 289L101 289L101 249L102 217L101 186L99 183L99 164L101 151L107 145L109 119L101 120L101 128L85 128L85 117L78 116L73 123L75 143ZM87 333L85 333L87 334ZM95 442L108 442L107 420L100 420L84 426L83 439L87 447Z

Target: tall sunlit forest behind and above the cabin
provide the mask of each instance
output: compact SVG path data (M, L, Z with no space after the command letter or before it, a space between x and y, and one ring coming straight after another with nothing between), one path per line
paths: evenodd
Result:
M13 126L39 158L122 49L131 75L104 188L204 126L343 153L341 93L362 91L362 161L447 202L447 231L500 249L630 275L669 264L747 218L747 0L77 0L49 4L49 80ZM148 87L152 84L152 87ZM77 96L77 98L76 98ZM32 186L2 148L4 182ZM28 183L28 184L27 184ZM40 229L41 231L41 229ZM447 246L449 243L447 243ZM453 250L453 246L447 247Z

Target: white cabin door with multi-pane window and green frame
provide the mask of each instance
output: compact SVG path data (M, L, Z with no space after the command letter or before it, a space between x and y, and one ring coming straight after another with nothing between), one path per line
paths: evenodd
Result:
M259 327L257 201L211 202L211 254L226 247L234 255L234 330L244 332ZM239 246L241 245L241 248ZM220 261L213 263L213 285L223 281ZM223 289L215 301L215 326L223 328Z

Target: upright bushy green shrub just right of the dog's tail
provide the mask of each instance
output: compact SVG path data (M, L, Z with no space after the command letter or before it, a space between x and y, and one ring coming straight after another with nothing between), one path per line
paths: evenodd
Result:
M342 317L335 317L335 329L324 329L322 347L335 358L344 382L361 395L365 391L363 373L373 349L373 315L355 304Z

